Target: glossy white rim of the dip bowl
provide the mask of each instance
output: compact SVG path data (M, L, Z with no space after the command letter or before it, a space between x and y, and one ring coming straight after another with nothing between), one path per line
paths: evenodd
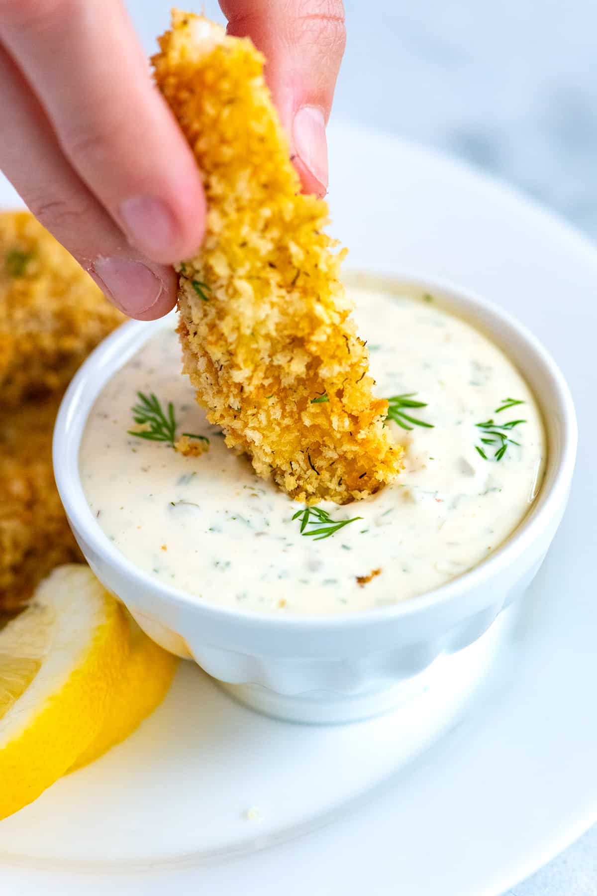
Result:
M256 626L260 629L275 627L284 630L292 629L296 632L301 627L307 631L314 631L330 627L330 625L335 630L351 629L355 625L387 625L390 621L395 622L399 619L424 615L435 607L446 607L461 595L486 585L489 580L499 576L500 572L514 564L536 541L542 538L542 533L549 527L552 517L558 513L559 507L566 503L576 461L576 411L564 375L533 332L525 324L520 323L515 316L489 299L471 289L461 287L452 280L430 276L420 271L397 271L384 268L382 265L376 265L375 269L371 271L348 269L345 273L345 279L353 283L356 279L364 277L368 280L377 279L388 284L399 284L417 292L433 291L438 293L440 305L447 306L451 313L463 317L475 329L484 332L502 348L507 357L509 356L507 349L503 346L504 340L495 338L491 332L491 324L494 329L498 329L499 326L500 329L509 331L519 343L525 345L526 357L529 358L528 366L541 367L543 373L550 378L551 397L559 407L563 421L557 469L550 470L550 464L554 461L548 444L547 465L543 474L542 486L532 510L520 521L516 530L500 547L480 564L476 564L470 570L457 576L456 579L411 599L353 613L282 615L236 607L221 607L210 603L209 600L199 599L196 595L159 582L124 556L107 538L93 517L81 485L79 451L85 423L101 389L115 370L122 366L135 350L139 349L153 333L167 325L174 314L172 312L158 321L124 323L105 340L102 340L72 378L72 382L64 393L55 421L53 439L55 482L72 529L81 532L97 555L105 563L115 567L121 575L134 582L136 587L151 592L152 595L169 604L192 608L193 612L209 616L215 623L234 622L237 626L243 625L249 629ZM479 317L482 317L482 321L478 320ZM516 363L512 358L510 360L512 363ZM108 367L108 361L116 363ZM521 374L526 378L524 371L521 370ZM536 401L543 418L545 418L544 402L539 396L536 396ZM82 420L81 403L85 409ZM551 473L550 485L546 481L548 472Z

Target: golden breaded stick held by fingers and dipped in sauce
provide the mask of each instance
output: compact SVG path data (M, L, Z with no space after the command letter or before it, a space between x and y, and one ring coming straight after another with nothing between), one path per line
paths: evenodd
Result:
M338 280L327 203L300 193L251 40L174 12L156 81L204 177L200 252L180 266L183 369L230 448L299 501L346 504L401 469Z

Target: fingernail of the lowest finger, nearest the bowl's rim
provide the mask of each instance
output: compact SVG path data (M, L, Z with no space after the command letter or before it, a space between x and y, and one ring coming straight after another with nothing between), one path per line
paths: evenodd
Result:
M162 283L142 262L98 258L90 275L117 308L129 317L149 311L162 294Z

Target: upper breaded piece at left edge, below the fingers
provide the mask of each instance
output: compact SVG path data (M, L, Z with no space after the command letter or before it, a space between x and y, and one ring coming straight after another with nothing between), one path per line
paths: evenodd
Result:
M29 211L0 213L0 408L64 390L124 319Z

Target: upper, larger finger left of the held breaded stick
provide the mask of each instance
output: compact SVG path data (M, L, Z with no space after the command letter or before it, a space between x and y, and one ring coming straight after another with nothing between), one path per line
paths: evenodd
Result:
M161 263L193 254L204 230L200 174L120 0L3 0L0 38L64 155L132 245Z

